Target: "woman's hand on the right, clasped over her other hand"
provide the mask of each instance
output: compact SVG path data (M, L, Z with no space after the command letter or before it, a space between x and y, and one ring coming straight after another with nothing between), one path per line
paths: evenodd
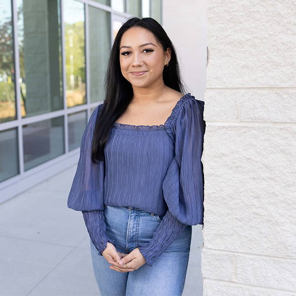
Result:
M136 248L128 255L122 253L120 254L122 255L122 259L120 259L119 262L114 259L108 261L111 264L110 269L120 272L134 271L146 263L146 260L139 248ZM125 269L125 264L128 266L127 269Z

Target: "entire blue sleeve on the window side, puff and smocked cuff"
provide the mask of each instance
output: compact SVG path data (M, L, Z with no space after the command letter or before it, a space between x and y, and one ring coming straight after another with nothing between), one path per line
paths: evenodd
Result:
M93 111L84 130L80 156L73 184L68 196L68 207L82 211L83 219L89 236L99 251L106 249L107 242L115 245L106 235L104 219L104 161L94 164L91 160L92 140L96 119L103 104Z

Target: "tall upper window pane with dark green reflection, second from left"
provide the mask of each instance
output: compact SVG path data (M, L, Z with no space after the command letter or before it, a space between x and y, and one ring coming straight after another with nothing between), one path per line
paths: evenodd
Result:
M22 116L63 109L58 0L16 0Z

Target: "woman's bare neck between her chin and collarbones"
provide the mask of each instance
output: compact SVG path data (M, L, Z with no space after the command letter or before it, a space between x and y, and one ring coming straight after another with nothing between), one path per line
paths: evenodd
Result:
M167 86L163 83L159 83L152 88L140 88L133 87L134 96L132 103L139 103L141 105L148 105L152 102L158 101L166 91Z

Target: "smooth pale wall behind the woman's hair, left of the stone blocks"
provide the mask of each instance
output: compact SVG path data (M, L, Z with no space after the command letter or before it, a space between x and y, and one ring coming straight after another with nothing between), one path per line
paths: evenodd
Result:
M207 0L163 0L163 27L177 49L184 82L204 100L207 60Z

